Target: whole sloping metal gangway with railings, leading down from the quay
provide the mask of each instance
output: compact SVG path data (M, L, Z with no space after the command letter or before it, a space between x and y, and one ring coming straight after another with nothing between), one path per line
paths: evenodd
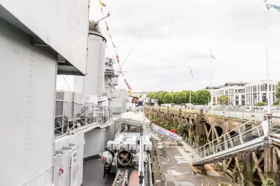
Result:
M264 116L267 117L267 120L263 121ZM272 124L271 118L273 117L275 116L257 116L197 148L191 153L191 164L209 164L254 152L261 146L272 144L272 133L279 133L280 131L278 129L275 131L275 128L272 128L277 125Z

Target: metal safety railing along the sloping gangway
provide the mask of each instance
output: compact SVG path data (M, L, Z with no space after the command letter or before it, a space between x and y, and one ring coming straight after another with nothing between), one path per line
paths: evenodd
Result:
M252 121L255 121L255 118ZM241 153L244 151L244 148L249 149L255 143L263 142L264 132L261 122L252 125L252 121L245 122L219 138L197 148L191 153L192 164L203 163L203 161L207 163L209 161L215 162L215 158L223 157L228 155L228 153L230 154L230 152Z

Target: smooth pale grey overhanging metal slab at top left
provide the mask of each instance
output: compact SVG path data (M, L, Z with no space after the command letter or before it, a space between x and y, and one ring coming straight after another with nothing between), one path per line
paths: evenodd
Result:
M86 67L88 3L89 0L0 0L0 5L16 20L83 74Z

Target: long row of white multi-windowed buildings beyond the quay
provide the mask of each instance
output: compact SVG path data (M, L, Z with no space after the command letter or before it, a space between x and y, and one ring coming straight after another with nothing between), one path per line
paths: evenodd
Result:
M275 101L275 85L276 81L269 80L269 96L270 105L273 105ZM212 87L211 99L213 105L218 105L218 98L222 95L229 97L228 105L255 105L257 102L266 102L266 80L262 80L255 83L225 83L219 87ZM210 87L207 86L206 90L210 91Z

